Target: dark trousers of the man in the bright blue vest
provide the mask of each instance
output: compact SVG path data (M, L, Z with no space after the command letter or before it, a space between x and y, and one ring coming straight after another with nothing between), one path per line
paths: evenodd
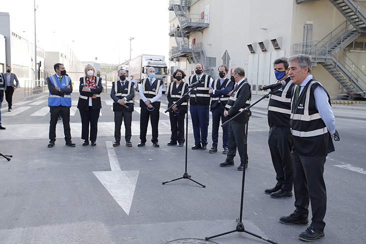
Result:
M50 120L50 133L49 138L51 141L56 141L56 124L61 113L62 123L64 124L65 141L71 141L70 130L70 107L57 106L50 107L51 120Z

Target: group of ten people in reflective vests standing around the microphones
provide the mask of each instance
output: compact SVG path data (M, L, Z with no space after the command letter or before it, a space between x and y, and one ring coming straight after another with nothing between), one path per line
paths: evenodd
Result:
M312 241L324 237L323 220L326 210L326 189L323 178L324 163L328 153L334 151L332 137L335 133L335 119L331 110L327 91L311 75L311 58L307 55L295 55L276 59L273 63L277 82L284 85L271 90L268 104L269 137L268 145L272 163L276 172L277 183L273 188L265 189L273 198L292 197L295 193L295 211L288 216L280 217L285 224L308 224L308 207L311 202L312 222L299 234L302 240ZM75 146L70 135L70 107L72 92L71 80L66 76L65 67L55 64L56 74L47 78L49 86L49 106L51 111L50 143L55 145L57 117L61 113L64 123L65 141L68 146ZM218 151L218 134L220 120L223 127L223 154L227 154L221 167L234 165L238 151L240 165L238 170L248 167L246 153L245 127L248 118L241 113L250 105L251 87L245 79L243 68L235 68L228 78L228 67L218 68L219 79L203 73L204 67L197 64L195 75L184 79L186 74L176 70L167 89L168 107L171 107L169 119L171 136L168 146L184 146L184 120L188 112L188 101L193 124L195 145L193 150L206 150L209 127L209 111L212 112L212 148L210 153ZM85 67L85 77L80 78L78 108L82 120L83 146L89 144L89 124L91 145L96 145L97 122L101 108L101 78L94 76L91 65ZM152 129L151 142L158 144L158 121L162 82L155 79L155 70L150 67L147 77L141 80L140 95L140 143L145 146L148 121ZM126 71L118 71L119 80L113 82L111 98L115 130L113 146L120 145L121 125L124 120L126 146L131 147L131 122L135 97L134 83L127 81ZM1 84L1 83L0 83ZM189 98L186 94L190 94ZM186 95L186 96L185 96ZM238 115L239 114L239 115Z

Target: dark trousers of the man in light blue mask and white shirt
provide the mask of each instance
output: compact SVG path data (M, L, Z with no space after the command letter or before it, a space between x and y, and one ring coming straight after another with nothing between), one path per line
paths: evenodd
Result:
M143 143L146 142L147 125L149 123L149 118L150 118L151 131L152 131L151 142L157 143L157 141L158 141L157 137L159 135L159 131L158 131L159 115L160 115L160 112L158 109L149 111L146 109L145 106L141 107L141 112L140 112L140 140L141 140L141 142L143 142Z

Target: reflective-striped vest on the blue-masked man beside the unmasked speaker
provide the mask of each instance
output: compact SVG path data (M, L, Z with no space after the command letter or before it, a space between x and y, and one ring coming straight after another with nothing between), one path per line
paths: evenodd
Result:
M268 102L268 124L278 127L290 127L291 114L291 94L295 84L291 83L291 78L287 77L286 85L276 87Z

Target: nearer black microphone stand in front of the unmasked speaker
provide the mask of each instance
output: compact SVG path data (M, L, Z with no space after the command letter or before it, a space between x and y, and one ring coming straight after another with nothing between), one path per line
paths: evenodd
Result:
M260 101L262 101L263 99L269 98L270 94L272 94L272 90L268 94L264 95L261 99L259 99L258 101L256 101L252 105L246 107L243 111L241 111L240 113L235 115L233 118L229 119L228 121L226 121L224 124L221 125L221 127L224 127L227 124L229 124L233 119L235 119L237 116L239 116L240 114L242 114L242 113L245 114L245 116L246 116L246 126L245 126L244 158L247 157L247 149L248 149L248 147L247 147L248 146L248 123L249 123L249 117L252 115L252 112L250 111L250 108L253 107L254 105L256 105L257 103L259 103ZM231 230L231 231L228 231L228 232L224 232L224 233L221 233L221 234L206 237L205 239L209 240L211 238L215 238L215 237L225 235L225 234L230 234L230 233L233 233L233 232L246 232L246 233L251 234L255 237L258 237L262 240L268 241L268 242L273 243L273 244L277 244L277 242L274 242L271 239L268 239L268 238L265 238L263 236L254 234L254 233L249 232L248 230L245 229L244 224L242 222L242 219L243 219L243 203L244 203L244 182L245 182L245 166L244 166L244 169L243 169L243 178L242 178L242 193L241 193L242 195L241 195L241 203L240 203L240 218L236 219L237 223L238 223L236 228L234 230Z

